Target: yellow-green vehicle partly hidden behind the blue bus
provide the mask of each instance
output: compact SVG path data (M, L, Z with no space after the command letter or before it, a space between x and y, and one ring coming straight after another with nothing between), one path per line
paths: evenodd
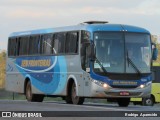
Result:
M153 106L154 103L160 103L160 66L152 67L152 89L149 98L131 98L134 105Z

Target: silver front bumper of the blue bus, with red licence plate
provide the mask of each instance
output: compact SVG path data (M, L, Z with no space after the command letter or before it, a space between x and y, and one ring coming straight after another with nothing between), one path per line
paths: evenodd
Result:
M94 97L149 97L151 85L137 88L113 88L110 86L99 86L92 83L92 95Z

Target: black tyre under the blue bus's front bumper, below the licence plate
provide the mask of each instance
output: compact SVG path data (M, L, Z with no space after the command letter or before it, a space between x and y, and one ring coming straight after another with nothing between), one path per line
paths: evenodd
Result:
M130 98L118 98L117 102L119 107L128 107L130 103Z

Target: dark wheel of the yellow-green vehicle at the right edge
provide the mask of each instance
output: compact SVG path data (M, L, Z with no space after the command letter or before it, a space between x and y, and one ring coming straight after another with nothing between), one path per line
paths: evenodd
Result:
M149 98L143 98L142 99L142 105L143 106L153 106L154 105L154 96L151 95Z

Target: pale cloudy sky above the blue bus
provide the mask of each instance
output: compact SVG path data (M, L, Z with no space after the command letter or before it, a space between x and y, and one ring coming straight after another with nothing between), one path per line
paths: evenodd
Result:
M146 28L160 35L160 0L0 0L0 49L12 32L89 20Z

